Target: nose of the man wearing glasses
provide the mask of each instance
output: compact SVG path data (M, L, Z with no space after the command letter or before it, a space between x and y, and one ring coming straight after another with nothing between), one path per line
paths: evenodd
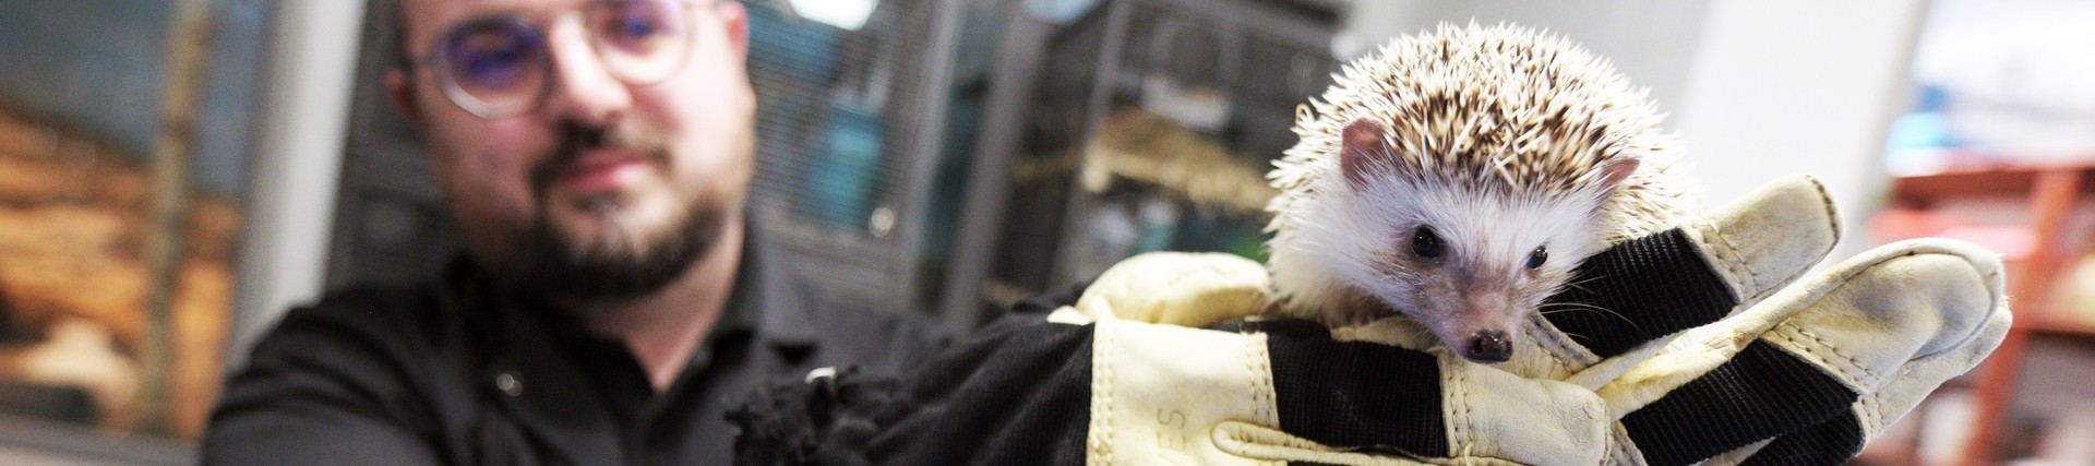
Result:
M633 107L633 90L612 76L580 25L559 23L547 36L557 78L545 103L549 115L603 126Z

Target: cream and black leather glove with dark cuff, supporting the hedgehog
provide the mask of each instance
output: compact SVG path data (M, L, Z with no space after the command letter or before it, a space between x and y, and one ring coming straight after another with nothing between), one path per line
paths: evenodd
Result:
M2009 325L1999 260L1957 241L1883 246L1791 283L1837 231L1798 178L1619 243L1496 367L1402 319L1200 330L1263 313L1263 267L1131 258L859 418L817 416L859 435L796 445L869 464L1833 464ZM853 411L848 390L823 393Z

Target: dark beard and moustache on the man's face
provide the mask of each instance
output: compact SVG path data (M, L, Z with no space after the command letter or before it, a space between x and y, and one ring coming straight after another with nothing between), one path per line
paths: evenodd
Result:
M608 134L566 124L561 145L532 172L541 210L551 208L545 191L557 168L574 162L587 149L612 143L641 147L658 168L666 168L668 153L658 139ZM620 199L593 202L618 204ZM725 212L706 208L698 199L691 202L691 208L675 218L664 235L637 239L641 243L626 241L631 237L626 231L608 231L601 239L570 237L553 227L551 212L538 212L520 241L522 248L507 262L513 264L517 285L526 294L543 298L601 304L647 296L683 277L721 239L727 223ZM618 225L610 227L618 229Z

